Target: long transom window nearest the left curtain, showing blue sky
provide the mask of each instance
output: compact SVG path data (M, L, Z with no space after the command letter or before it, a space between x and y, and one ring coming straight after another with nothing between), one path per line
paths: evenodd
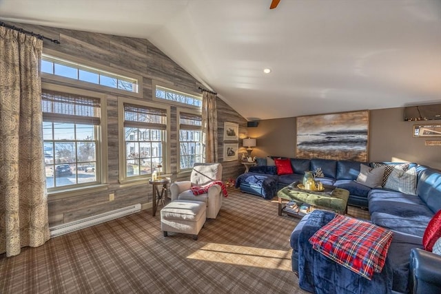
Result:
M58 57L46 54L43 54L41 58L41 72L138 93L139 81L134 78L106 72L98 68L59 59Z

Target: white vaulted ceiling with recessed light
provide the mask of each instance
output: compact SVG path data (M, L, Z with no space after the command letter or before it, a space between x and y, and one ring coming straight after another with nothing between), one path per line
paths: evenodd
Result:
M270 3L0 0L0 19L149 39L249 120L441 103L441 0Z

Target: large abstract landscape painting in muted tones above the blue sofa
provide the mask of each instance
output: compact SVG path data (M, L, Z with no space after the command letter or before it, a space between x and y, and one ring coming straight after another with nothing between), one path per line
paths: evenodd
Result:
M297 158L367 161L369 112L297 118Z

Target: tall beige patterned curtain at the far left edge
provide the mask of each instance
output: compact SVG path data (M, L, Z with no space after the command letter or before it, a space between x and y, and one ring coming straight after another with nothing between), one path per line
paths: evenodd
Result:
M0 253L49 238L43 156L43 42L0 27Z

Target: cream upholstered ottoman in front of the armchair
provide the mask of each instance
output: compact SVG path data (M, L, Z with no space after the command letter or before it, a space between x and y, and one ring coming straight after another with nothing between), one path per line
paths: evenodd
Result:
M207 218L207 204L190 200L174 200L161 209L161 231L192 234L198 240Z

